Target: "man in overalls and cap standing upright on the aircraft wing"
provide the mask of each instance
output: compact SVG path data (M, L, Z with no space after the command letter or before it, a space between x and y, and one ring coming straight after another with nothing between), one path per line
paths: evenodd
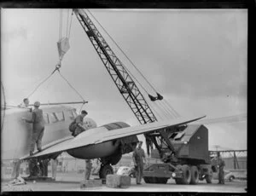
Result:
M38 151L42 151L42 138L44 135L44 116L43 110L39 109L40 102L34 103L34 110L32 111L32 119L22 118L26 123L32 124L32 141L30 145L30 155L33 154L35 145L37 143Z

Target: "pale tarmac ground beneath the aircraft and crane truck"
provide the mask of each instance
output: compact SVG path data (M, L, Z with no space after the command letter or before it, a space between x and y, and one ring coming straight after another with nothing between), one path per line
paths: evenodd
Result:
M98 178L98 176L90 176L90 179ZM173 179L169 179L167 184L147 184L137 185L135 178L131 178L131 187L112 188L102 185L101 187L80 188L80 182L84 180L84 173L76 172L57 173L56 181L35 181L26 182L25 185L10 185L10 177L3 176L1 181L1 192L29 192L29 191L70 191L70 192L196 192L196 193L247 193L247 181L234 180L233 182L225 182L224 185L218 184L217 180L212 180L212 184L205 181L199 182L197 185L177 185Z

